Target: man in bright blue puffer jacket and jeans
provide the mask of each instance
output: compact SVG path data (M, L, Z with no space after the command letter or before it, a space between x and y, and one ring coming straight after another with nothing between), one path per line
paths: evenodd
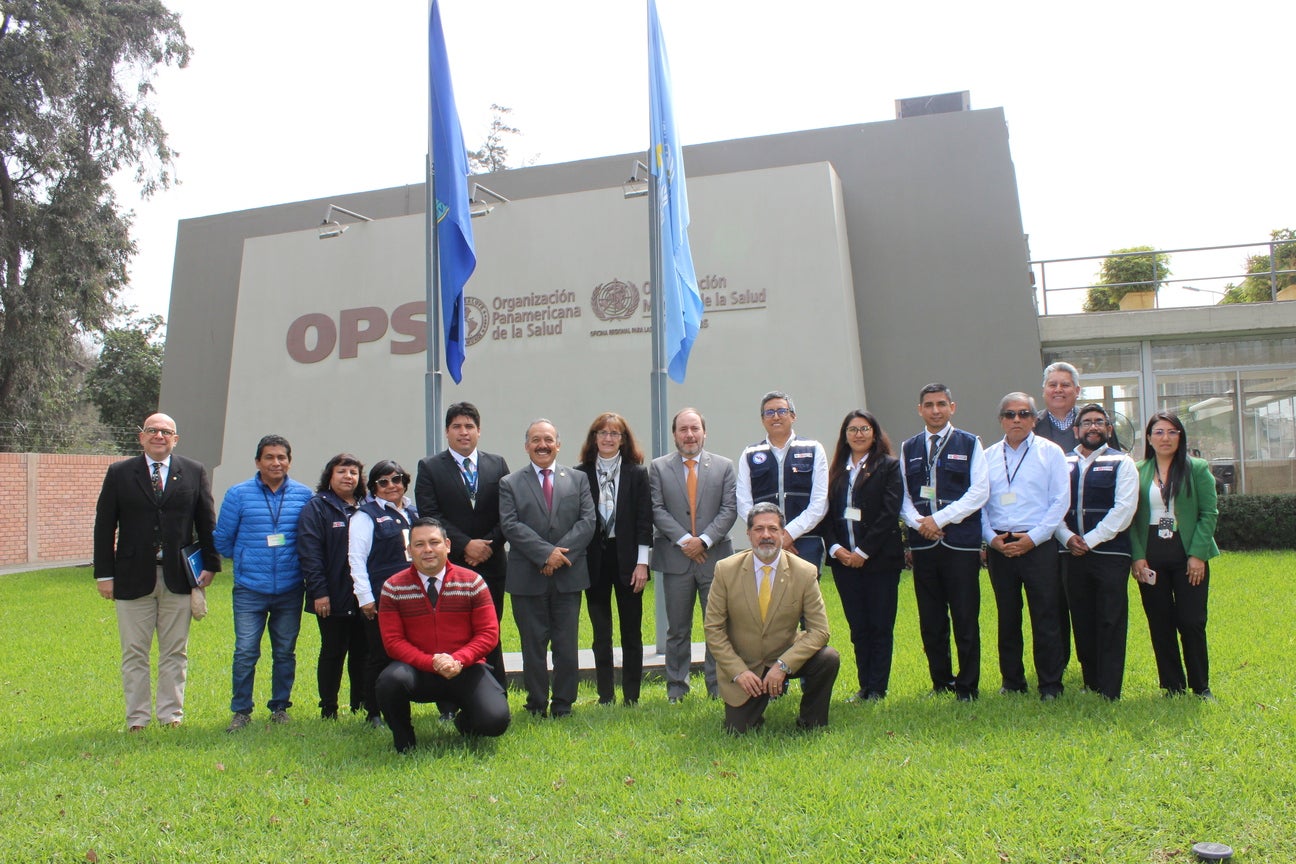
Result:
M270 624L270 719L288 723L297 675L297 632L302 627L301 563L297 517L311 490L288 477L293 447L280 435L257 444L257 473L232 486L216 519L216 551L235 561L233 698L227 732L251 722L251 690L260 658L260 636Z

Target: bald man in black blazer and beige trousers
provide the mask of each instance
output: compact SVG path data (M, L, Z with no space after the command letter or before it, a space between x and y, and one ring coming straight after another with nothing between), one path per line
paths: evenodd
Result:
M95 580L100 596L117 608L131 732L144 729L152 715L153 633L158 640L158 723L180 725L184 719L192 583L180 549L194 538L202 547L200 587L211 584L220 571L211 540L215 514L207 470L171 452L179 440L175 421L166 415L145 420L140 430L144 455L109 466L95 509Z

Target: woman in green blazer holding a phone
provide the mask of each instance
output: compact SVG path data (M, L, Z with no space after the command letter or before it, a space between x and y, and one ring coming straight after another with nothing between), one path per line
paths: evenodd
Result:
M1139 582L1156 671L1168 694L1191 687L1201 698L1212 699L1207 561L1220 554L1214 541L1220 514L1214 475L1205 460L1188 456L1187 431L1168 411L1152 415L1144 442L1138 512L1130 526L1134 558L1130 570Z

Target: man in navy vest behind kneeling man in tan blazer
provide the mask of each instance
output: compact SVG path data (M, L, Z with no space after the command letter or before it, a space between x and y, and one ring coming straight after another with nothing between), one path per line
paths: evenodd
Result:
M828 512L828 455L823 444L792 431L797 418L792 396L771 390L761 396L766 438L737 460L737 518L757 504L774 504L784 517L783 548L811 565L823 566L823 538L814 532Z

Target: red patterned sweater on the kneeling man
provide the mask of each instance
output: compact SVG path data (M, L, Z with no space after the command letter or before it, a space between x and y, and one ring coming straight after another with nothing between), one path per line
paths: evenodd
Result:
M486 583L448 561L435 609L412 566L388 579L378 602L378 630L388 657L424 672L433 671L433 654L450 654L472 666L499 644L499 622Z

